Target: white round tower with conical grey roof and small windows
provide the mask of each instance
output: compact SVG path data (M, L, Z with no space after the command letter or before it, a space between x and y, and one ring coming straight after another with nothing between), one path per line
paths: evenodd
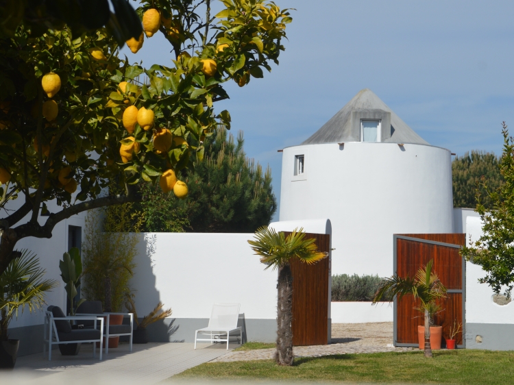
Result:
M365 89L282 158L280 221L329 218L332 274L393 274L393 234L453 232L452 160Z

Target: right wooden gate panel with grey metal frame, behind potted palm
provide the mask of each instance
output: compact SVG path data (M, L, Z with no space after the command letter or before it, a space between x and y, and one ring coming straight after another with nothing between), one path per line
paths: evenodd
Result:
M441 299L443 310L435 316L435 324L443 327L443 346L454 321L461 322L463 332L456 338L458 347L464 347L465 328L465 260L459 249L465 245L465 234L395 234L394 269L400 277L414 277L421 266L434 261L434 271L448 289ZM417 326L424 325L424 318L414 308L419 300L405 295L394 301L394 345L418 346Z

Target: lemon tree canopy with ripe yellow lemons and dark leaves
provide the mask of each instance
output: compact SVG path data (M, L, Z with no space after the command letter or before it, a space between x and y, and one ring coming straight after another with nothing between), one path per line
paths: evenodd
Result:
M0 36L0 209L23 202L0 214L0 273L20 239L50 238L73 214L138 201L136 184L187 197L182 171L203 160L217 127L230 129L229 112L215 110L228 98L223 84L245 86L278 64L291 21L274 3L219 3L211 16L210 1L143 1L143 44L166 34L170 66L119 58L106 28L39 34L22 21L14 36ZM195 14L199 5L205 19ZM109 181L124 193L102 196ZM48 213L53 200L61 209Z

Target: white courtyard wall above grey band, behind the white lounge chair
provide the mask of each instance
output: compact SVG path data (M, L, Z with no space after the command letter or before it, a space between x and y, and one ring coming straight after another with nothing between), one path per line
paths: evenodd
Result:
M147 253L151 236L155 253ZM245 319L276 319L277 273L253 254L254 234L145 233L138 244L136 289L138 316L159 301L172 318L209 318L212 303L241 303Z

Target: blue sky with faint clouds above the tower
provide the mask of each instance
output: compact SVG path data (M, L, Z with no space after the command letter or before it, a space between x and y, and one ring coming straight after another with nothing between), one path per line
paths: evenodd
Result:
M296 8L289 41L265 79L229 82L234 134L269 164L280 201L282 155L326 123L363 88L431 145L462 155L502 151L501 123L514 134L513 1L276 0ZM171 66L162 34L131 61ZM278 219L278 214L276 214Z

